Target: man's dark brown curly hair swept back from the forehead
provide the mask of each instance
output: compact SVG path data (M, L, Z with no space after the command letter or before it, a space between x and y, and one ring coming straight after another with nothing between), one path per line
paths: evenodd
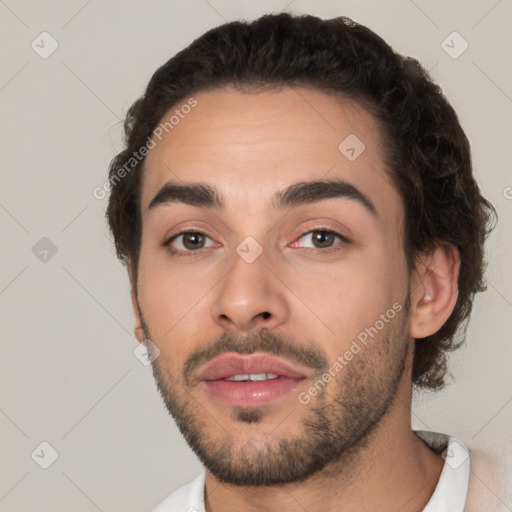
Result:
M279 13L227 23L154 73L127 113L126 148L110 163L107 218L118 257L133 263L136 275L144 164L138 151L180 101L228 85L246 92L286 86L338 92L376 117L389 148L385 159L391 181L405 203L409 269L420 252L440 242L454 245L460 255L459 294L451 316L437 333L415 340L414 384L442 388L446 352L464 341L474 294L485 290L483 245L496 212L480 194L468 139L439 86L417 60L397 54L346 17Z

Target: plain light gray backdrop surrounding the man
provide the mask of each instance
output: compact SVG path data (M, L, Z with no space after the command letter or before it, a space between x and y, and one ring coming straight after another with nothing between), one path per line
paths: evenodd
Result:
M511 0L6 0L0 511L151 510L201 470L150 368L133 354L128 279L105 228L106 200L92 191L121 147L127 108L158 66L225 20L280 10L368 25L419 58L460 115L500 222L487 248L489 289L476 299L467 344L451 358L455 383L419 396L413 422L510 471ZM46 59L31 47L48 51L43 31L58 43ZM441 46L453 31L469 44L456 59ZM39 465L51 457L43 441L58 453L48 469ZM495 510L512 510L510 490L479 478L497 494Z

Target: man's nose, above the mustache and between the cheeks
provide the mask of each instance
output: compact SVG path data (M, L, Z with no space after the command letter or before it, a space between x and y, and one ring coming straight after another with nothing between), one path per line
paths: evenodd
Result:
M213 319L226 331L276 328L289 315L286 290L263 255L247 263L235 254L231 270L217 288Z

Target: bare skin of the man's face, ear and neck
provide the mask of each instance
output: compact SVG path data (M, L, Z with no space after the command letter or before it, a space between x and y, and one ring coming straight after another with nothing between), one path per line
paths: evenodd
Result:
M223 88L195 98L197 106L146 158L136 273L129 263L135 334L139 341L150 335L159 348L154 365L169 393L188 408L212 446L229 445L235 455L256 460L267 446L300 438L302 421L315 405L334 404L340 393L357 392L358 377L365 383L375 376L391 378L393 372L397 377L385 414L351 453L304 481L274 486L230 485L207 470L207 510L291 511L300 504L325 512L421 511L443 460L411 430L414 338L435 333L453 310L457 251L440 244L409 272L403 202L385 169L380 128L358 103L310 88L258 94ZM366 146L352 162L338 150L349 134ZM347 198L287 210L270 206L275 192L287 185L335 178L363 192L378 215ZM214 185L225 197L225 208L172 203L149 209L169 180ZM350 242L336 239L336 250L314 252L311 236L303 234L319 227ZM172 235L191 228L209 237L200 254L177 257L164 246ZM247 236L263 250L250 264L235 250ZM183 242L181 237L174 247L186 250ZM307 367L309 378L260 408L259 421L252 423L212 400L197 378L188 384L183 378L194 351L211 346L223 333L243 336L262 328L297 347L317 349L332 365L359 333L408 296L409 315L386 324L309 404L297 400L313 382ZM402 321L405 332L398 336ZM401 373L391 364L400 354Z

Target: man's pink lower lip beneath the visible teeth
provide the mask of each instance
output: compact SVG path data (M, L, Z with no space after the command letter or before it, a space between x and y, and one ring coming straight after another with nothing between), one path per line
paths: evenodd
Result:
M260 381L205 380L214 398L232 407L259 407L288 394L304 379L279 377Z

